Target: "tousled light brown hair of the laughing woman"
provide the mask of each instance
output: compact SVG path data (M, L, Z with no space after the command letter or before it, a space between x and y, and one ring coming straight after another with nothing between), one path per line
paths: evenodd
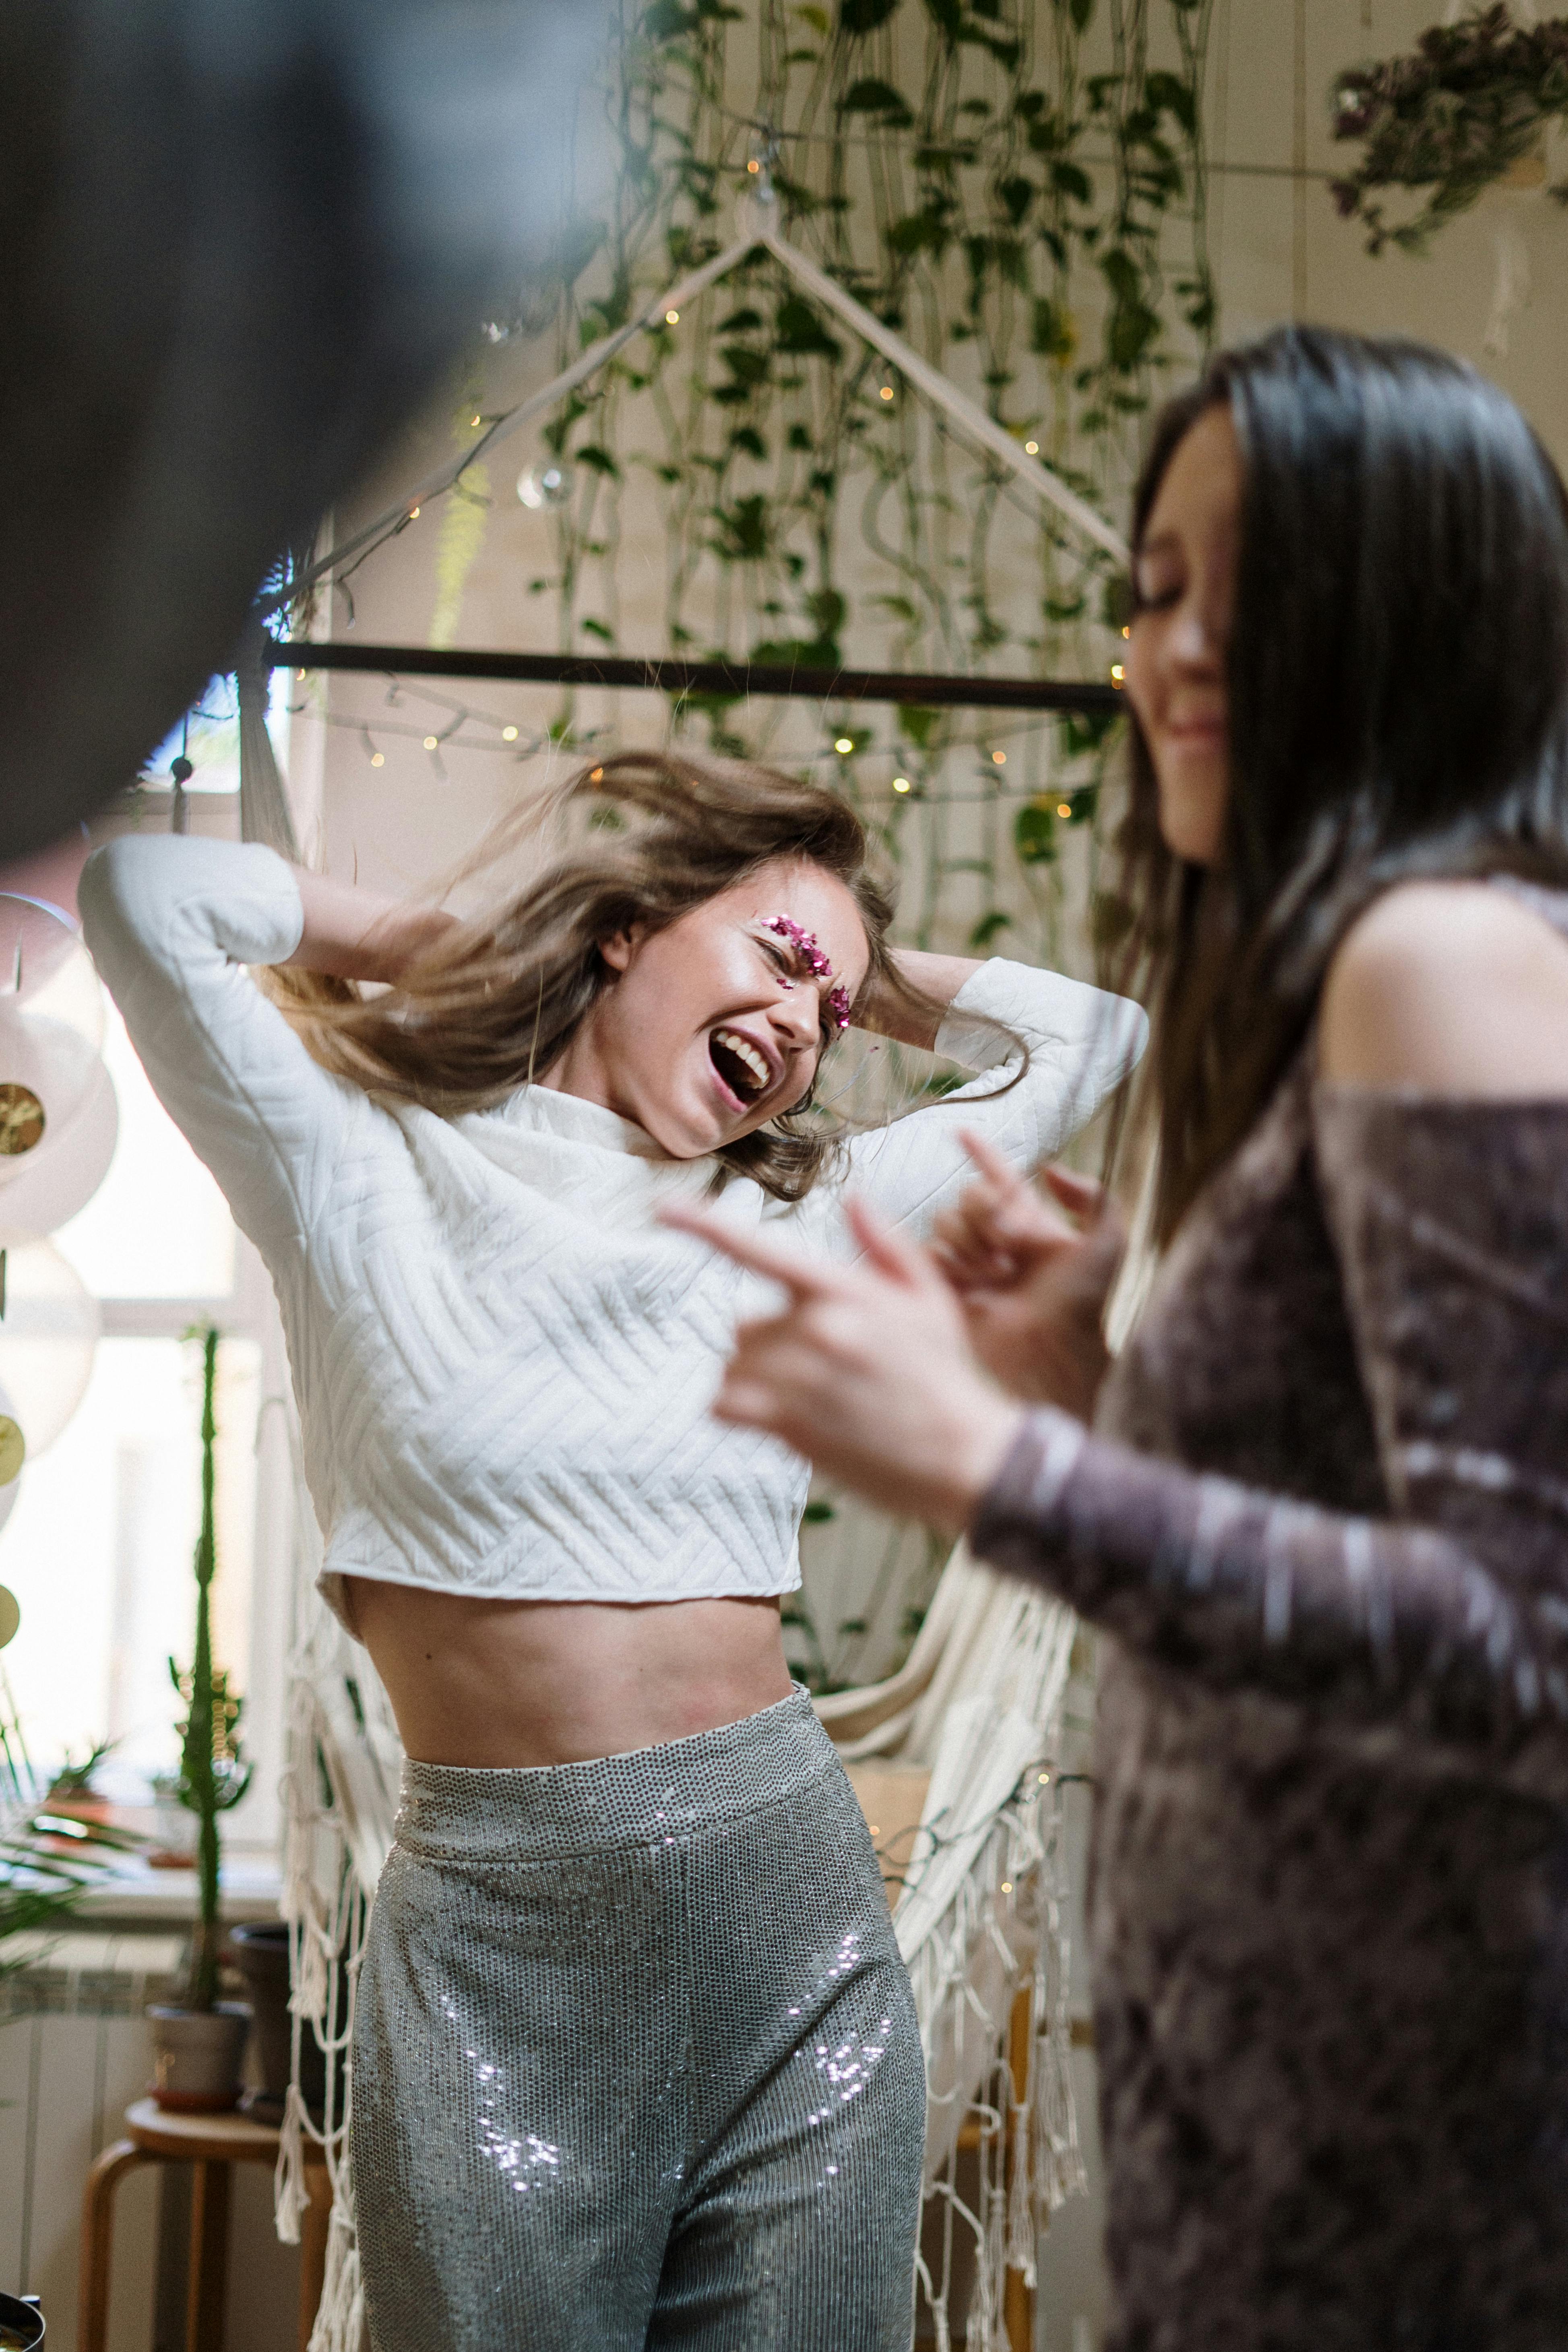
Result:
M496 891L517 858L529 880ZM632 924L663 929L771 858L804 858L853 896L870 948L858 1009L875 1000L882 1014L940 1021L943 1007L893 960L893 894L846 800L752 760L651 750L599 760L503 821L465 868L491 877L491 913L447 931L397 988L364 997L353 981L282 969L270 988L339 1077L447 1117L484 1110L567 1051L611 978L602 941ZM999 1023L997 1035L1013 1042ZM835 1141L806 1096L717 1157L776 1200L799 1200Z

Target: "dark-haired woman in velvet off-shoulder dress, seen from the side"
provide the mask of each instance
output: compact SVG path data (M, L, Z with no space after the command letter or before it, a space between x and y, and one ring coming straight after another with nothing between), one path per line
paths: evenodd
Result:
M1110 1637L1110 2343L1547 2352L1563 487L1458 360L1288 329L1166 412L1133 590L1124 898L1161 1247L1138 1329L1107 1369L1081 1312L1103 1237L983 1152L940 1263L865 1207L856 1268L712 1235L790 1289L719 1418L966 1529Z

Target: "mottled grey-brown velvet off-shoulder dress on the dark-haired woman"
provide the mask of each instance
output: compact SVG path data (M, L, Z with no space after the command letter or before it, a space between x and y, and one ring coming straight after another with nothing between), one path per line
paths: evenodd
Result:
M971 1534L1110 1637L1114 2352L1568 2347L1568 1103L1307 1049Z

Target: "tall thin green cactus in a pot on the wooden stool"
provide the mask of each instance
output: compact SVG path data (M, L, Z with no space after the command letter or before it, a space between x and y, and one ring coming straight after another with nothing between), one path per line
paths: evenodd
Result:
M212 1578L219 1566L214 1524L214 1444L219 1435L214 1390L219 1376L219 1334L202 1334L202 1531L195 1543L195 1656L181 1672L169 1658L174 1689L186 1700L181 1729L179 1797L195 1813L197 1919L190 1938L190 1976L183 2002L155 2004L153 2020L155 2079L160 2107L212 2112L233 2107L240 2098L240 2058L249 2030L249 2009L219 1999L219 1955L223 1922L219 1917L219 1813L228 1813L249 1788L249 1766L240 1759L235 1726L240 1698L228 1689L228 1675L212 1663Z

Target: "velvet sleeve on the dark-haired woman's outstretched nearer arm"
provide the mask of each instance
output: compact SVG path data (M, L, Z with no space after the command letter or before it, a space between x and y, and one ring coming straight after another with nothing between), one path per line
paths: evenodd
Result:
M1032 1414L973 1548L1150 1663L1568 1797L1568 1103L1321 1094L1387 1517Z

